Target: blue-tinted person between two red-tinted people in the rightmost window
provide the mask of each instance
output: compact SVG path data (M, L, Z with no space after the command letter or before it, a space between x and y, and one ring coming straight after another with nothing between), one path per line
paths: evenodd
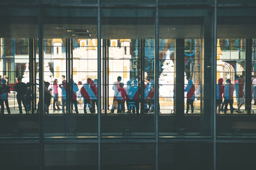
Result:
M230 106L230 112L233 113L234 108L233 108L233 103L234 103L234 99L233 99L233 95L234 95L234 85L231 83L230 79L226 80L226 85L224 88L224 114L227 113L228 110L228 104Z

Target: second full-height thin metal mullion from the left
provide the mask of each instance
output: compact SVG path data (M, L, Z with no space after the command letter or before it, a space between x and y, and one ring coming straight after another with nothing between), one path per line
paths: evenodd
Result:
M97 51L98 51L98 170L101 169L101 124L100 124L100 117L101 117L101 23L100 23L100 0L98 0L98 15L97 15Z

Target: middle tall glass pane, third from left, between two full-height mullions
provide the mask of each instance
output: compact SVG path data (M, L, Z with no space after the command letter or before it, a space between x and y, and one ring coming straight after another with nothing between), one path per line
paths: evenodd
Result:
M102 38L102 136L154 136L154 10L102 9Z

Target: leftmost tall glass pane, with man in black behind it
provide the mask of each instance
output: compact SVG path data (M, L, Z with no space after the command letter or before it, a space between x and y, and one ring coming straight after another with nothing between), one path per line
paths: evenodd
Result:
M37 9L15 6L0 9L1 137L38 136L38 116L30 114L35 113L31 104L36 101L32 75L36 72Z

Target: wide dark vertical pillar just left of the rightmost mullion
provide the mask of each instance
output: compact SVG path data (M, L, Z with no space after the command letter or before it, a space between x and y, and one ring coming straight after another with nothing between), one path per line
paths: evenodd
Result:
M212 135L214 117L216 116L216 19L214 9L205 12L204 17L204 100L202 113L202 134ZM216 17L216 16L215 16Z

